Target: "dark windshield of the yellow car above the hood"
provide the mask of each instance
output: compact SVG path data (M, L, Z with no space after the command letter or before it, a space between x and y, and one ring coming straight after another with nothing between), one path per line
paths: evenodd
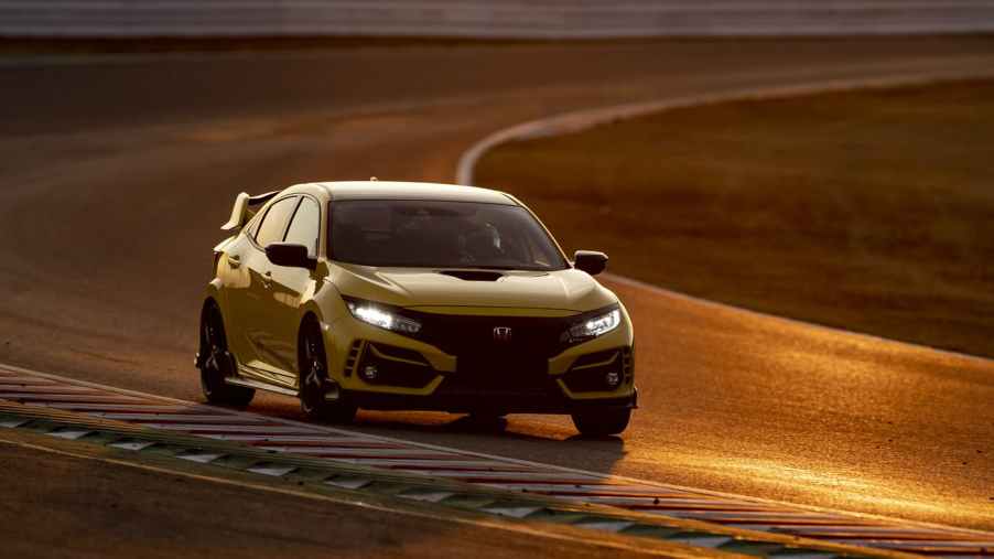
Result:
M475 202L332 203L332 258L381 267L562 270L562 252L523 207Z

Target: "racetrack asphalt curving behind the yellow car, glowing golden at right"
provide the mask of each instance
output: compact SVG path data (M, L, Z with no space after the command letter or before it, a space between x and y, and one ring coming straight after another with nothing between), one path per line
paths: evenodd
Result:
M241 190L447 182L479 138L561 111L992 63L983 37L0 61L0 361L198 399L201 288ZM612 287L638 332L641 409L623 438L539 416L493 433L363 412L356 429L994 529L991 361ZM298 417L282 397L253 409Z

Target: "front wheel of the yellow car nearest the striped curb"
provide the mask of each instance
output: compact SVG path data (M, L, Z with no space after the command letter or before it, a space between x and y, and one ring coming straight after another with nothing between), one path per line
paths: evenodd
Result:
M298 343L300 375L300 409L310 419L348 423L356 417L357 408L341 391L337 400L326 400L331 380L327 372L327 354L324 337L313 322L301 329Z

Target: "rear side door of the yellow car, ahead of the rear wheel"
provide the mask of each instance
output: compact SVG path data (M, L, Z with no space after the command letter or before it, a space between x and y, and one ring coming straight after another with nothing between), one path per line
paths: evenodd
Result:
M238 334L241 336L245 355L238 355L248 369L244 373L262 380L285 384L279 370L277 357L278 335L274 333L272 316L277 313L277 302L272 297L273 265L266 256L266 246L283 239L290 217L300 203L300 196L284 196L273 201L266 209L248 246L240 251L241 288L228 294L230 305L237 308Z

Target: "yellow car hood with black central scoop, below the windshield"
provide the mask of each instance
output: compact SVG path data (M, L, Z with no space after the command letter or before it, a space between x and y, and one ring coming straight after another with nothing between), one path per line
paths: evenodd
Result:
M464 279L467 276L464 271L338 264L333 266L331 279L344 295L407 308L493 307L585 312L617 301L594 278L575 269L500 270L499 278L493 281Z

